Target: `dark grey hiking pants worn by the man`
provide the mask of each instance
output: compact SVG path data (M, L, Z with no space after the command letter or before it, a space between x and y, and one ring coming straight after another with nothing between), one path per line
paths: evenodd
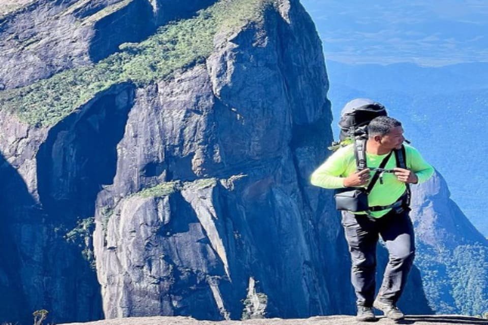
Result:
M408 209L401 213L392 210L375 220L343 211L342 225L351 252L351 282L356 291L357 305L373 306L378 235L385 242L389 256L378 296L384 302L396 304L415 255L413 225Z

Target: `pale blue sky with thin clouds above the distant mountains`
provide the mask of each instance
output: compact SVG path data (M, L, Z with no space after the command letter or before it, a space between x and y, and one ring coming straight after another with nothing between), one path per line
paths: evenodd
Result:
M421 66L488 61L488 1L301 3L330 60Z

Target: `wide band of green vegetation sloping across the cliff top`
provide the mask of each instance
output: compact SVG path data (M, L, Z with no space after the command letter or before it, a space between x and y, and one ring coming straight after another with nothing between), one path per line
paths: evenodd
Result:
M194 18L160 27L141 43L120 45L120 52L97 64L2 91L0 107L31 125L53 125L113 85L130 82L140 87L204 62L217 32L229 36L249 22L262 21L271 4L272 0L219 1Z

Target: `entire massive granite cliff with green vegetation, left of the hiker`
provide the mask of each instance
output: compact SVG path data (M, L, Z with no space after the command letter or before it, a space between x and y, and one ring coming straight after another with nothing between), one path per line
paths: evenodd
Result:
M331 139L310 17L295 1L147 2L173 8L167 20L206 9L148 38L96 28L138 21L136 3L29 2L2 18L2 317L350 312L337 214L308 184ZM94 56L97 35L142 42Z

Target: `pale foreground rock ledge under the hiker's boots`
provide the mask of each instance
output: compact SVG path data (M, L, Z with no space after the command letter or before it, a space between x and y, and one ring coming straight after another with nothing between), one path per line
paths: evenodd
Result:
M282 318L265 318L250 319L244 321L237 320L196 320L191 317L128 317L114 318L86 323L69 323L65 325L354 325L368 324L367 322L357 321L353 316L317 316L302 319L282 319ZM485 324L488 325L488 319L461 316L461 315L412 315L406 316L405 319L395 322L388 318L380 317L378 321L371 324L415 324L415 325L452 325L452 324Z

